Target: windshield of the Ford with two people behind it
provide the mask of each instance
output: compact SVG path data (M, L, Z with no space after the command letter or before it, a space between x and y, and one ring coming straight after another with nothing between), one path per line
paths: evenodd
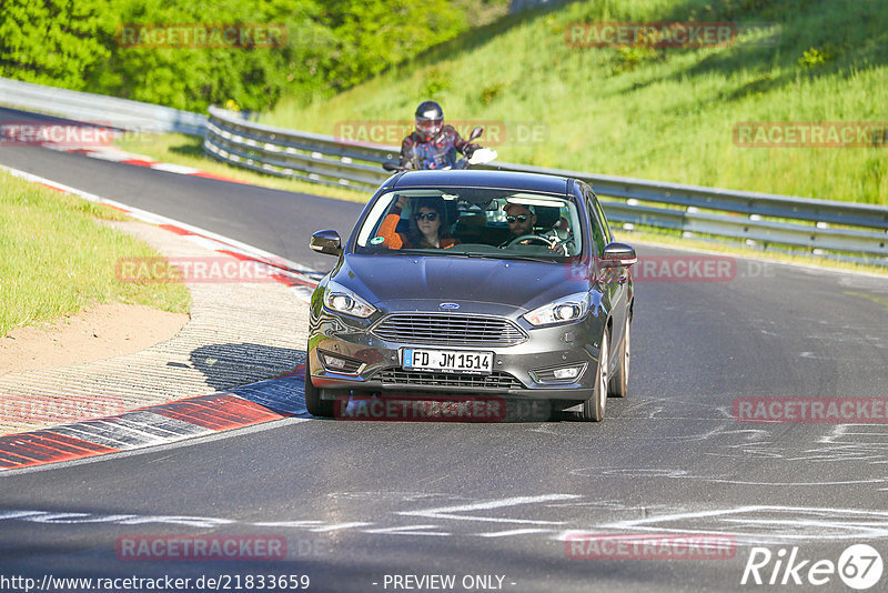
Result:
M356 253L563 261L582 254L576 204L562 195L488 188L412 189L376 200Z

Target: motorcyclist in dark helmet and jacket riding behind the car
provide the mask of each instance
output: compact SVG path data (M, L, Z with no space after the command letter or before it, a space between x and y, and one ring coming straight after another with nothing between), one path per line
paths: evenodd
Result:
M464 140L453 125L444 125L444 111L434 101L416 108L416 129L401 142L402 169L445 169L455 167L457 153L466 159L477 144Z

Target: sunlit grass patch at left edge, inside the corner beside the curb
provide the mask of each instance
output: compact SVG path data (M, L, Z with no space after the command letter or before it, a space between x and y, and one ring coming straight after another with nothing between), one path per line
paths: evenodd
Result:
M191 295L183 284L117 280L119 259L160 257L101 222L123 219L110 208L0 172L0 336L93 303L186 313Z

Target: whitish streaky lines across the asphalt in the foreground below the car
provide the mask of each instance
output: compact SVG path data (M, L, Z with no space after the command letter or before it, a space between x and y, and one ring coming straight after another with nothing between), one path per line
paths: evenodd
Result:
M410 501L403 501L408 503ZM413 501L415 502L415 501ZM743 505L725 509L653 509L638 516L637 509L625 507L622 513L632 514L614 521L615 509L607 505L599 509L602 519L588 521L591 503L577 494L545 494L537 496L516 496L493 501L478 501L471 504L440 506L415 511L394 512L394 522L351 521L330 522L319 519L292 521L243 522L220 516L190 515L141 515L130 513L98 514L90 512L54 512L38 510L0 511L0 521L22 521L58 527L73 527L82 524L112 525L176 525L198 530L219 530L221 527L241 531L262 527L299 531L317 534L333 534L344 531L367 535L422 535L440 537L484 537L509 539L527 535L544 535L548 541L566 541L579 533L718 533L731 535L741 545L781 544L803 541L848 541L861 539L888 539L888 511L865 509L834 509L813 506ZM553 504L546 504L553 503ZM569 507L583 513L582 520L528 520L503 516L487 516L484 511L506 510L521 505L535 505L535 509L556 510L564 513ZM362 506L362 509L364 509ZM472 513L472 514L467 514ZM374 513L375 514L375 513ZM379 516L377 514L375 514ZM422 517L435 522L397 524L396 519ZM512 523L511 529L493 531L462 530L461 526L477 523ZM394 524L393 524L394 523ZM586 524L582 524L586 523ZM522 526L522 525L533 526ZM447 525L446 527L444 525Z

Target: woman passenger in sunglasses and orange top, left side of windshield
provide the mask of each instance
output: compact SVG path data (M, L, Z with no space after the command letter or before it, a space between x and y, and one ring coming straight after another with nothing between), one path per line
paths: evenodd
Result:
M407 197L398 195L397 202L380 225L379 235L385 239L385 247L389 249L447 249L460 244L457 239L450 235L447 208L441 198L413 198L410 231L406 234L397 232L395 229L401 220L401 211L406 203Z

